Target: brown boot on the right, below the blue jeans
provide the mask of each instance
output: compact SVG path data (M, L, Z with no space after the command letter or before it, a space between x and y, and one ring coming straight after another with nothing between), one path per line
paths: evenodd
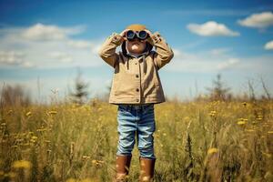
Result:
M150 182L154 180L155 163L156 159L154 158L139 157L140 175L138 180L140 182Z

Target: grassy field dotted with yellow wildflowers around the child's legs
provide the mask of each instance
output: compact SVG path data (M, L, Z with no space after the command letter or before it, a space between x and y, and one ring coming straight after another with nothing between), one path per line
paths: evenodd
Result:
M116 111L96 100L1 108L0 180L111 181ZM155 113L155 181L273 181L272 101L166 102Z

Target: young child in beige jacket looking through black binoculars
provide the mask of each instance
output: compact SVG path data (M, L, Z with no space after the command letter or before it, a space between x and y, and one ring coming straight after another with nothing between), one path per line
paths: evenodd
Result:
M118 45L122 51L116 53ZM154 105L165 102L157 71L174 53L159 32L152 34L145 25L135 24L128 25L120 34L110 35L99 56L115 69L109 96L109 103L118 106L115 181L126 181L135 136L140 153L139 180L152 181L156 162Z

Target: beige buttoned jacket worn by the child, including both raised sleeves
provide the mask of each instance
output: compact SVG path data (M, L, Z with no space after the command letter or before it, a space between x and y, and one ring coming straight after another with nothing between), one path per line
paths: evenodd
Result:
M156 32L149 41L151 48L138 57L128 56L125 43L120 35L108 36L99 50L99 56L115 68L109 96L110 104L147 104L165 102L165 96L158 76L158 70L174 56L165 39ZM116 47L122 45L122 52L116 53Z

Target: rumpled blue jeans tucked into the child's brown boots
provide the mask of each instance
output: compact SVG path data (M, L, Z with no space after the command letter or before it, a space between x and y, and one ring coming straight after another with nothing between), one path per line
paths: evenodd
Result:
M156 158L153 136L156 131L154 104L118 104L117 123L116 155L132 156L136 136L140 157Z

